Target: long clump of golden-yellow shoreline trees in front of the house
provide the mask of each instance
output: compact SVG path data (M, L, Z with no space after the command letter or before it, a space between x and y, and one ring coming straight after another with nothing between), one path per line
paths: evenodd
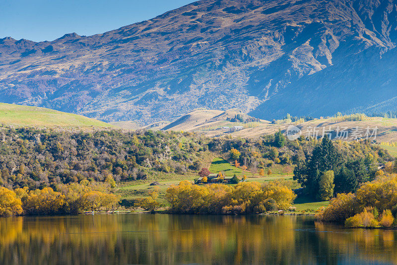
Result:
M269 200L277 208L290 206L296 195L281 183L239 183L236 186L213 184L192 185L188 181L171 186L166 191L170 211L178 213L247 214L266 210Z

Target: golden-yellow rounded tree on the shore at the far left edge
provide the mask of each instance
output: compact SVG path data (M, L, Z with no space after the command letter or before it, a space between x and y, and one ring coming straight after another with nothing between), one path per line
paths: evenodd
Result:
M22 201L14 191L0 188L0 216L22 214Z

